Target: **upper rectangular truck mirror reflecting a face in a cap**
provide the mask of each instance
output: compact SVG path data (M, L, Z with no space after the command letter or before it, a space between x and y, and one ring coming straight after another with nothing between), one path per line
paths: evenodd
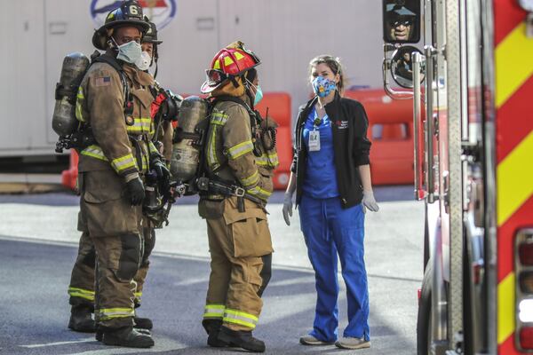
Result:
M420 0L383 0L383 41L420 41Z

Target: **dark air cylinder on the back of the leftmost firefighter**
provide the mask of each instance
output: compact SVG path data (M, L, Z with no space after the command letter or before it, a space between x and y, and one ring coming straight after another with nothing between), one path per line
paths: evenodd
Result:
M53 108L52 129L60 137L76 131L76 95L78 86L84 79L90 61L84 53L70 53L63 59L60 83L56 85Z

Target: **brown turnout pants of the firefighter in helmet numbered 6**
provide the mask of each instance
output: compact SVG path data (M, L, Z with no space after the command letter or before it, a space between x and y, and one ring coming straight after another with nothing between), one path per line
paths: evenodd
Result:
M89 274L86 266L90 263L78 264L91 254L86 251L88 235L96 255L95 319L102 327L132 326L137 287L133 278L142 253L141 208L132 207L123 197L123 183L114 171L83 172L81 177L78 229L83 232L80 250L85 256L78 256L74 271Z

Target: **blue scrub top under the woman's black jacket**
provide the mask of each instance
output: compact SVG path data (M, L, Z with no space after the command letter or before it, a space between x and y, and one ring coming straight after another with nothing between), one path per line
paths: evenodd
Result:
M320 150L309 152L309 132L315 130L314 119L317 117L313 109L306 119L303 135L307 148L306 177L302 191L315 199L338 197L337 170L335 169L333 152L333 132L328 114L324 115L320 126Z

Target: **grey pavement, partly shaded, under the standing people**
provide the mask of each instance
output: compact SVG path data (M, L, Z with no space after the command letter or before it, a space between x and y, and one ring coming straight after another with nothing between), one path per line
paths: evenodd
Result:
M0 203L0 353L143 352L103 347L93 342L91 335L73 333L66 327L66 289L79 238L77 207L58 202L58 196L52 196L47 204L9 202ZM381 202L380 208L366 219L372 348L357 353L412 354L416 351L417 289L422 278L423 204L388 201ZM298 344L298 336L313 323L314 273L299 232L298 214L289 227L282 220L281 209L279 203L268 207L274 275L256 334L267 341L267 353L351 353ZM155 321L156 346L147 352L228 353L230 350L206 348L200 325L209 272L204 222L194 204L174 206L170 220L171 225L157 233L139 312ZM346 325L344 293L342 288L340 331Z

